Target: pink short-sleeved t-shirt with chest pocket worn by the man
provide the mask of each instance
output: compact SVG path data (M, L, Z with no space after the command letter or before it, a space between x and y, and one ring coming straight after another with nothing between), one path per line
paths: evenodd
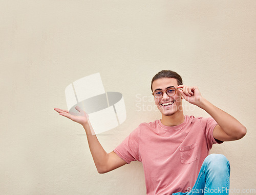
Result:
M125 162L142 162L147 194L172 194L193 187L212 144L216 121L185 116L182 124L142 123L114 152Z

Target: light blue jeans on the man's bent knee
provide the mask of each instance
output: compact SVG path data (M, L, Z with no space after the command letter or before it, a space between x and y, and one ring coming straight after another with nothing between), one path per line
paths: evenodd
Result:
M225 156L211 154L204 159L197 181L188 192L177 192L173 195L194 194L228 194L230 165Z

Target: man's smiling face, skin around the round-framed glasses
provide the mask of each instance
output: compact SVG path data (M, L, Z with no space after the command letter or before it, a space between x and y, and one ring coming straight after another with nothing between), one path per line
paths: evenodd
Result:
M175 78L161 78L157 79L152 84L153 92L156 90L165 91L166 89L170 87L175 87L177 89L178 83ZM174 96L168 96L165 92L163 93L163 96L160 99L156 99L154 97L155 104L157 105L157 108L159 111L165 115L170 116L177 112L182 112L182 103L181 103L181 94L177 90L176 94ZM169 103L168 105L163 105Z

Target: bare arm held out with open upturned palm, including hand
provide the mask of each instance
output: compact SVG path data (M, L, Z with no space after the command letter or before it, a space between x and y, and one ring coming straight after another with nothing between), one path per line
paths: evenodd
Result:
M81 110L81 108L79 108L78 106L76 107L76 110L79 112L76 115L72 115L69 113L69 111L59 108L54 108L54 110L60 115L65 116L83 126L84 130L86 131L90 152L92 154L93 161L98 173L103 174L106 172L110 172L111 170L126 164L126 162L119 156L117 156L116 153L105 152L99 140L97 139L97 136L94 133L94 130L88 118L88 114Z

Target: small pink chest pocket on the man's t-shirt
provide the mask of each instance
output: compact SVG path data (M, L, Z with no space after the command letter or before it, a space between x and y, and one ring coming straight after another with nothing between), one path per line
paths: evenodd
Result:
M197 143L180 147L181 164L190 164L198 159Z

